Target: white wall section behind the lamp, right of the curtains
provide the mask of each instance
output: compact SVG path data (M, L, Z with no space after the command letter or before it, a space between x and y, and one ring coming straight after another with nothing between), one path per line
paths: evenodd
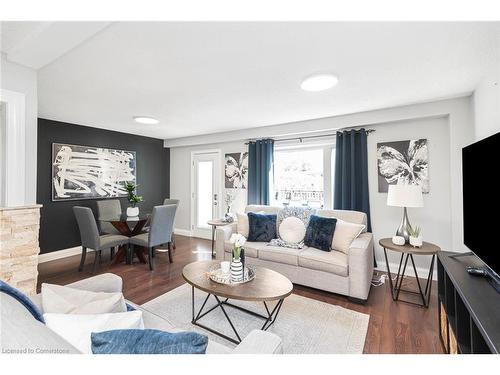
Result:
M387 193L378 192L377 143L426 138L429 152L429 194L424 194L423 208L409 208L408 217L413 226L420 226L425 241L452 249L450 126L448 117L415 119L379 124L368 136L368 180L372 231L375 237L375 254L379 266L384 265L384 255L378 241L392 236L401 222L403 209L386 204ZM389 262L398 263L397 253L389 252ZM415 257L417 267L429 266L430 258ZM394 270L395 272L396 270Z

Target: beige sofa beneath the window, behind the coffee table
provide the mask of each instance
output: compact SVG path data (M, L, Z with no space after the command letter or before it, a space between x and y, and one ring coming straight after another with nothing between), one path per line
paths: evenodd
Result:
M277 214L279 210L279 207L249 205L245 212ZM365 225L367 220L366 214L358 211L318 210L316 215ZM236 232L236 223L217 228L218 260L231 259L229 239ZM244 247L247 264L275 270L294 284L343 294L356 302L368 299L373 275L373 235L366 230L352 242L348 254L313 247L290 249L265 242L247 241Z

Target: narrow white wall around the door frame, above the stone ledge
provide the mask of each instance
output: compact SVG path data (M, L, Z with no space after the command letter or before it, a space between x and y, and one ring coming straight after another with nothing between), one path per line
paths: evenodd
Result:
M33 204L36 202L37 173L37 74L33 69L7 61L4 54L1 54L0 68L0 87L25 95L25 204Z

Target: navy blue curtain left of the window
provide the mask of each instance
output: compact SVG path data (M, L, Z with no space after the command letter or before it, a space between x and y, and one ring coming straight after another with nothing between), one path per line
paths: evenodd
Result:
M269 204L273 178L274 141L261 139L248 144L248 204Z

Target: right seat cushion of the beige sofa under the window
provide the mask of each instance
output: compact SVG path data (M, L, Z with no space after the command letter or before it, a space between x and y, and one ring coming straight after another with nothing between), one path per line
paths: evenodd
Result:
M309 247L299 254L299 266L312 270L348 275L347 255L340 251L323 251Z

